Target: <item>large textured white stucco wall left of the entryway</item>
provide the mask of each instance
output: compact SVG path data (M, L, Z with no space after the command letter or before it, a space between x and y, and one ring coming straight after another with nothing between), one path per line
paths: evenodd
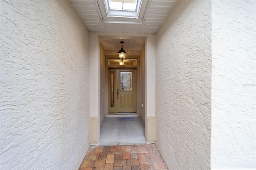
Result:
M68 1L1 0L1 169L79 168L89 147L88 38Z

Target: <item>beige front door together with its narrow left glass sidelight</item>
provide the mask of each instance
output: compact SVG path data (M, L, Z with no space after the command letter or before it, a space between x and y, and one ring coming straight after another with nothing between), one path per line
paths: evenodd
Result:
M137 112L137 73L136 69L109 69L110 114Z

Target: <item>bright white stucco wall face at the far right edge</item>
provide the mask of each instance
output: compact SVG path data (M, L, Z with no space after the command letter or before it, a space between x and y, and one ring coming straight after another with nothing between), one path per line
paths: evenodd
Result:
M256 168L256 1L212 1L211 167Z

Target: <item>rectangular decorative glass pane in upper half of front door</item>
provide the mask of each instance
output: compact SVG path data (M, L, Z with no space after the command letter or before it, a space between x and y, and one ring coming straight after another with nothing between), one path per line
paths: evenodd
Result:
M132 71L120 71L121 91L132 91Z

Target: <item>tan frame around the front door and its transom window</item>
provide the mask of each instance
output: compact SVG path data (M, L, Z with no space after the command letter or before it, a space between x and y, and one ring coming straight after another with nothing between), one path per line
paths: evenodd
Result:
M140 116L140 56L139 55L131 55L131 56L127 56L126 55L126 59L137 59L137 65L109 65L108 64L108 59L119 59L118 56L114 56L114 55L106 55L105 56L105 116L109 116L109 115L117 115L117 114L109 114L108 112L108 105L109 105L109 99L108 99L108 70L109 69L130 69L130 68L134 68L136 69L136 77L137 77L137 111L136 111L136 115ZM114 93L115 94L115 93ZM118 114L118 115L122 115L122 114Z

